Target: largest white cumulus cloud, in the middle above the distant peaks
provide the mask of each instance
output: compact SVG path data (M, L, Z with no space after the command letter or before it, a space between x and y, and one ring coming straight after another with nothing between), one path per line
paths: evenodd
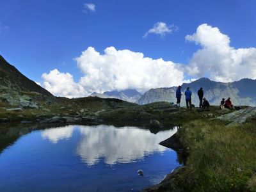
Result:
M175 63L144 57L141 52L108 47L104 54L88 47L76 58L84 77L80 84L88 92L136 88L148 90L159 86L174 86L184 79Z

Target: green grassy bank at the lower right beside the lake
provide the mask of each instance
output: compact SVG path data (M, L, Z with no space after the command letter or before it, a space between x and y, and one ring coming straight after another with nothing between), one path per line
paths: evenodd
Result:
M188 150L180 182L186 191L256 191L256 131L196 120L179 130Z

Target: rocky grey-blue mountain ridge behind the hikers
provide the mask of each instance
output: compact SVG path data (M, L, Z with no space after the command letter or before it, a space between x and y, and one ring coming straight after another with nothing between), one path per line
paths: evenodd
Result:
M221 83L211 81L207 78L200 78L192 83L182 84L181 105L185 106L184 92L189 87L192 91L192 103L199 105L197 91L200 87L204 89L204 97L211 105L219 105L222 98L230 97L232 102L239 106L256 106L256 80L241 79L232 83ZM156 88L146 92L138 104L148 104L156 101L176 102L175 92L177 87Z

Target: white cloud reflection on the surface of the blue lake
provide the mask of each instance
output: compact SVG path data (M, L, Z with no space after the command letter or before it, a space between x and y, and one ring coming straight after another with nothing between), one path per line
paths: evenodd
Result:
M42 138L58 143L71 138L74 130L79 131L82 136L77 143L76 153L88 165L98 163L100 158L104 158L106 164L131 163L143 159L145 155L163 152L166 147L158 143L177 131L175 128L152 134L136 127L117 129L111 125L68 125L42 131Z

